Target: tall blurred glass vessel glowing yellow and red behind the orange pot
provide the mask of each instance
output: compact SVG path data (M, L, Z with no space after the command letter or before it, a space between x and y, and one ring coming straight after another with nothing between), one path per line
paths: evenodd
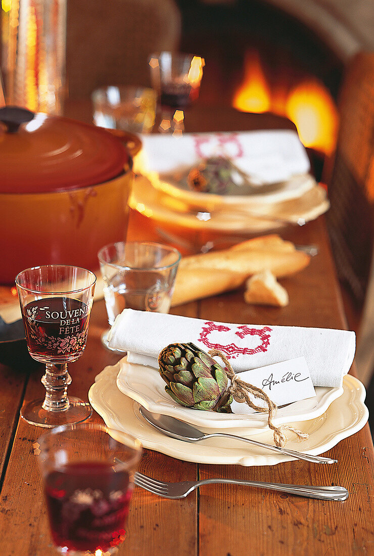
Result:
M2 1L2 65L8 105L63 110L66 0Z

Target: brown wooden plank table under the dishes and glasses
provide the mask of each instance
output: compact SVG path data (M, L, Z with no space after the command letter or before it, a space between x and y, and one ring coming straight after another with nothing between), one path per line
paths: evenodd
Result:
M251 128L248 115L238 122ZM244 127L243 127L244 126ZM217 125L218 127L218 125ZM238 128L238 127L237 127ZM225 127L222 127L225 129ZM129 235L152 236L146 219L131 214ZM235 291L174 307L174 314L251 324L346 327L340 289L323 217L281 234L298 244L317 244L319 254L299 274L283 280L290 304L283 309L256 307ZM103 301L93 305L86 350L69 366L71 395L87 399L94 377L119 356L105 350L100 336L107 326ZM24 400L42 397L42 368L16 370L0 365L1 519L0 547L5 556L56 554L49 535L34 443L41 434L22 420ZM98 415L94 420L101 420ZM204 486L186 499L157 498L134 489L127 539L119 554L163 556L242 556L246 554L373 554L373 444L368 425L342 440L326 455L335 465L292 461L270 467L186 463L144 450L140 470L154 478L184 480L214 476L299 484L340 484L350 497L323 502L238 485Z

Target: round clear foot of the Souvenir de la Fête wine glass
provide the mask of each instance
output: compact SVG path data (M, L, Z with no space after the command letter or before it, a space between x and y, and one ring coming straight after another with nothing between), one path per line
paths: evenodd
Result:
M35 426L51 429L59 425L82 423L92 415L92 407L87 401L69 397L69 408L65 411L46 411L42 408L43 400L31 401L21 408L22 419Z

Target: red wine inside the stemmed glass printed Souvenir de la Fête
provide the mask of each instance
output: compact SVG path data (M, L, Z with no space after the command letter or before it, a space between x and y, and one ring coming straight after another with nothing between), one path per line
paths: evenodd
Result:
M72 297L47 297L24 305L22 317L34 359L58 364L82 355L89 322L87 304Z

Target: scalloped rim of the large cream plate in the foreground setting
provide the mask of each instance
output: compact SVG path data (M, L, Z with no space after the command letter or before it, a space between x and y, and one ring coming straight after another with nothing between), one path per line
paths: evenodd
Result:
M188 444L189 449L186 450L186 443L181 440L176 440L162 435L149 425L147 421L141 418L139 414L139 405L136 401L128 398L128 396L122 394L117 389L116 373L115 370L113 371L114 367L115 366L107 366L98 376L96 376L95 382L88 392L89 402L97 413L102 416L107 426L111 428L119 428L128 434L137 436L137 438L139 438L139 440L143 443L144 448L156 450L173 458L191 461L193 463L260 466L276 465L285 461L294 460L294 458L283 454L261 453L261 449L248 448L248 446L241 449L233 449L222 447L219 444L218 447L204 446L204 442L202 442L197 444ZM305 453L313 455L325 453L341 440L357 433L366 424L368 419L368 410L363 403L366 396L365 387L358 379L351 375L345 376L343 384L346 391L349 391L351 395L351 403L344 404L345 407L348 407L351 410L350 419L348 420L347 412L342 412L340 409L340 405L342 405L345 401L345 393L343 393L340 398L337 398L330 404L325 414L317 419L302 422L303 427L301 428L309 430L313 428L313 426L317 427L319 425L314 434L317 434L318 431L321 432L322 428L330 426L330 430L326 431L327 436L325 432L325 437L320 439L319 443L315 440L315 446L311 446L310 449L303 450ZM108 385L108 388L111 389L112 395L121 396L119 403L121 403L121 409L123 409L124 414L126 414L126 425L122 425L119 422L122 411L108 406L108 396L104 396L106 406L103 405L103 399L100 399L100 394L105 394L104 389L106 388L106 385ZM334 429L337 419L335 419L333 415L330 418L331 423L329 423L329 414L333 413L333 411L345 417L347 422L343 428ZM134 423L132 423L131 420L134 418L136 419L134 420ZM131 423L132 426L129 426L129 423ZM265 438L261 438L261 440L269 442L269 433L270 431L262 431L261 437ZM313 433L310 438L313 438ZM213 442L219 442L220 440L222 442L222 439L212 439ZM325 443L323 443L323 441L325 441ZM287 443L287 447L300 451L301 445L296 443L296 441L290 441ZM258 453L258 451L260 451L260 453Z

